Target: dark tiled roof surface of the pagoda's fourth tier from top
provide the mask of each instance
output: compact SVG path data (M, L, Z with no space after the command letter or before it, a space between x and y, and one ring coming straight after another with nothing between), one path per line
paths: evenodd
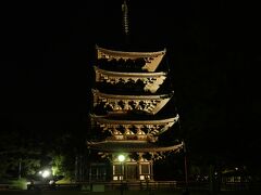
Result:
M161 125L161 123L167 123L177 121L179 116L178 114L175 117L165 117L160 118L158 116L137 116L137 115L109 115L109 116L97 116L97 115L90 115L90 117L102 123L116 123L116 125Z

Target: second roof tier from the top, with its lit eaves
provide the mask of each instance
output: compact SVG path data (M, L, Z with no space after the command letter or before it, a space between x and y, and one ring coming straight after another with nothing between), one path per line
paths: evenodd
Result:
M105 82L116 84L144 84L144 91L156 93L160 86L166 79L166 73L119 73L109 72L95 66L96 82Z

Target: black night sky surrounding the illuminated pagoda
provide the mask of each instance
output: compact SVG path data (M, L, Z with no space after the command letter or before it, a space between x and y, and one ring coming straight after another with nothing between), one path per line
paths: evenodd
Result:
M122 1L95 2L1 5L1 131L44 139L87 129L95 44L123 42ZM261 148L258 26L258 8L238 2L129 3L132 44L167 50L182 131L195 154L252 160Z

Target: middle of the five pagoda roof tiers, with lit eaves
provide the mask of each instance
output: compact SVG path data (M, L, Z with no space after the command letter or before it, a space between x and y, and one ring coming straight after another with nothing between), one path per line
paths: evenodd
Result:
M145 114L157 114L173 96L160 95L116 95L101 93L92 89L94 107L100 107L108 113L142 112Z

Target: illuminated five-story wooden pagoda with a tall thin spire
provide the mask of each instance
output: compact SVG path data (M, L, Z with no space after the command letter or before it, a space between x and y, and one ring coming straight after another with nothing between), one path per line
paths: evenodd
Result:
M160 139L178 120L174 110L164 113L174 94L166 87L166 50L136 52L97 46L96 53L92 136L87 145L98 158L90 164L89 180L153 180L153 160L183 147Z

